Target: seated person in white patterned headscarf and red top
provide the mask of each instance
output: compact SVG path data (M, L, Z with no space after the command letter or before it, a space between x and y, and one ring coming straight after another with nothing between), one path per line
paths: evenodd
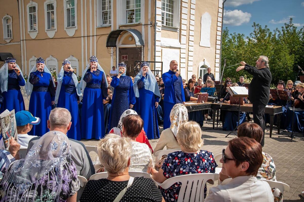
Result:
M117 127L113 127L109 133L113 133L113 134L116 134L116 135L119 135L120 137L122 137L123 136L123 120L129 114L137 115L137 112L132 109L127 109L126 111L124 111L123 114L121 114L121 116L120 116ZM147 144L149 149L151 150L151 153L153 153L153 149L151 147L151 144L150 144L148 137L147 137L145 131L143 130L143 128L141 129L140 133L136 137L136 142Z

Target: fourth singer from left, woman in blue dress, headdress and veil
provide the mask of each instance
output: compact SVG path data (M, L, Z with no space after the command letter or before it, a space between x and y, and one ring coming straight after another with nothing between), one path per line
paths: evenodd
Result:
M108 82L105 71L98 64L98 59L94 55L82 73L80 86L82 86L83 94L81 138L99 140L105 137L103 104L108 96Z

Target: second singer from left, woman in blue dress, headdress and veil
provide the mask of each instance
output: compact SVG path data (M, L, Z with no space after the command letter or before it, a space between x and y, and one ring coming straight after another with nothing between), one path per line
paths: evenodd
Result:
M47 133L47 120L49 119L52 105L55 104L55 83L50 71L44 64L44 59L39 57L36 65L29 74L26 83L26 94L29 98L29 112L40 118L40 124L33 125L30 135L42 136Z

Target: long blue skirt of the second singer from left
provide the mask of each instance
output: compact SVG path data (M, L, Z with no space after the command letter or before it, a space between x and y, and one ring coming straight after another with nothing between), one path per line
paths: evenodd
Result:
M33 125L28 134L42 136L48 131L47 120L52 110L52 100L50 92L33 91L29 99L29 112L40 118L40 124Z

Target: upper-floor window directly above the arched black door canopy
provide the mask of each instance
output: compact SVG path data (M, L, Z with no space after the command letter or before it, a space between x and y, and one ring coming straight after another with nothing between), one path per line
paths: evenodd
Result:
M126 0L127 23L140 22L140 0Z

